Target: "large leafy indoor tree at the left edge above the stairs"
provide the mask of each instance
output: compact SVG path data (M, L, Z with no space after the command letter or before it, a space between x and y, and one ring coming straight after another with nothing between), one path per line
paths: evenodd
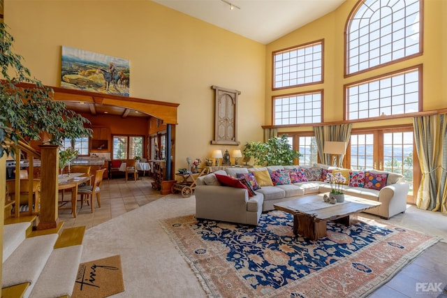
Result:
M67 110L64 102L51 100L54 91L31 78L23 57L13 51L14 38L7 29L0 22L0 157L14 155L18 140L60 145L64 138L90 136L91 129L84 127L88 119Z

